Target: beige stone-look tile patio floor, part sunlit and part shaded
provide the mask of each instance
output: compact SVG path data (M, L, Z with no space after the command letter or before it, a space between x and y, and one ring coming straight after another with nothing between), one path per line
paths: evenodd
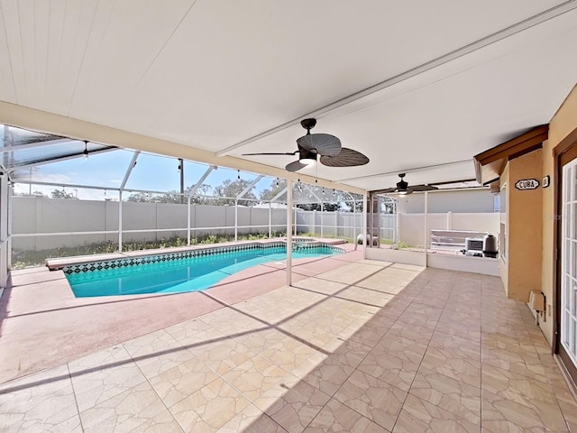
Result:
M0 431L577 431L499 278L359 261L209 296L222 308L0 385Z

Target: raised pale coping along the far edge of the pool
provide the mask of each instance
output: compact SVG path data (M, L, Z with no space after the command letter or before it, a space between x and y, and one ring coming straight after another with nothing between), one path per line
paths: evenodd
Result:
M305 238L299 237L293 238L293 242L304 241L307 243L307 246L319 246L319 245L326 245L326 246L334 246L339 244L346 244L346 241L343 239L324 239L324 238ZM204 251L227 251L236 250L236 249L244 249L253 247L272 247L271 244L287 244L286 238L273 238L273 239L261 239L256 241L237 241L237 242L226 242L222 244L200 244L200 245L191 245L191 246L180 246L180 247L173 247L173 248L160 248L154 250L142 250L142 251L127 251L125 253L104 253L104 254L91 254L91 255L76 255L71 257L59 257L59 258L50 258L45 260L45 266L50 271L58 271L64 268L69 268L72 266L82 266L82 265L89 265L94 263L102 263L102 262L122 262L124 260L135 260L135 259L142 259L148 258L152 256L159 256L159 255L169 255L171 258L183 256L186 257L188 253L202 253ZM230 251L229 250L229 251ZM134 264L134 263L133 263Z

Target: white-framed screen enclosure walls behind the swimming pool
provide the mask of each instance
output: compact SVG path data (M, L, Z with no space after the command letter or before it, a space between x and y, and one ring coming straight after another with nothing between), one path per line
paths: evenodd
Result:
M353 242L362 233L359 194L298 179L288 218L284 179L0 128L6 270L47 257L284 236L288 219L292 235ZM392 219L380 230L392 238Z

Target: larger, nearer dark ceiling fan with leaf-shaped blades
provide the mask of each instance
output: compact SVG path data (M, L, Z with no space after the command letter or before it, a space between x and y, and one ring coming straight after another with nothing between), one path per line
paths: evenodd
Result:
M316 125L316 119L304 119L300 122L307 134L297 140L298 149L295 152L261 152L243 153L248 155L296 155L298 161L290 162L285 168L289 171L298 171L319 161L327 167L354 167L364 165L370 160L361 152L341 147L341 141L331 134L310 134Z

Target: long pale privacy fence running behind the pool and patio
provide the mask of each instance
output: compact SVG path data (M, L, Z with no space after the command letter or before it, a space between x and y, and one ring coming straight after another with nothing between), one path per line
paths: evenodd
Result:
M118 202L41 197L11 198L13 248L48 250L118 242ZM362 233L362 213L297 209L298 234L356 238ZM123 240L156 241L179 236L234 235L234 206L123 202ZM238 207L238 234L284 232L287 210ZM424 244L423 214L380 215L380 238L419 246ZM428 214L428 228L499 233L499 214ZM81 233L78 233L81 232Z

